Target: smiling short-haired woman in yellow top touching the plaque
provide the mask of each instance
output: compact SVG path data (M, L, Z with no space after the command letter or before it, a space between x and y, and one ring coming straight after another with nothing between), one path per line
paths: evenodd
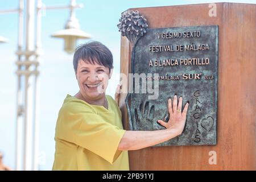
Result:
M128 150L153 146L182 133L188 104L181 113L182 98L178 105L177 96L173 102L168 100L170 120L158 121L166 129L123 130L121 111L105 94L113 56L103 44L89 42L77 47L73 66L79 92L68 94L59 111L53 170L129 170ZM115 96L118 100L119 94Z

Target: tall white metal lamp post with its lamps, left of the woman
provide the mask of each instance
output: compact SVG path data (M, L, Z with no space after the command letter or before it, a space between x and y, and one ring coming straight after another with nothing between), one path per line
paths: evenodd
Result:
M42 0L36 2L35 6L35 0L19 0L18 9L0 10L0 14L17 12L19 14L18 50L16 51L18 56L16 61L18 67L16 71L18 76L16 96L16 170L38 170L39 102L37 100L39 98L38 67L41 52ZM26 9L24 9L24 5ZM76 39L90 38L89 34L79 30L79 22L75 18L74 9L81 7L82 5L76 4L76 0L71 0L69 6L45 7L46 10L69 9L71 11L71 17L65 26L66 30L53 34L53 36L64 38L65 51L68 53L75 49ZM36 21L34 18L36 18ZM23 39L23 37L26 39ZM6 41L7 39L0 37L0 42Z

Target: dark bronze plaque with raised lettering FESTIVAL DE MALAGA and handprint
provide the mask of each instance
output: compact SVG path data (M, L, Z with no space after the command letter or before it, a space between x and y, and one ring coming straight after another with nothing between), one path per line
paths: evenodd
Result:
M157 146L216 144L218 26L148 28L134 43L131 63L139 76L126 98L131 130L164 129L157 120L168 121L167 100L177 94L183 107L189 101L185 129Z

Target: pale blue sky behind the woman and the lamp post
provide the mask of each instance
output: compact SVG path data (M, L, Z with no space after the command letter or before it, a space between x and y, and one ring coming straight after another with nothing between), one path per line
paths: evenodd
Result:
M119 80L120 34L117 24L122 11L132 7L154 7L210 3L222 1L171 1L171 0L77 0L84 8L76 10L80 27L93 35L92 40L104 43L114 56L114 76L110 80L107 94L114 95ZM256 0L225 1L256 3ZM69 5L69 0L43 0L47 5ZM0 0L0 9L14 9L18 0ZM53 39L53 32L63 29L69 16L68 10L47 10L42 18L42 48L40 71L40 143L39 151L45 160L40 169L51 170L55 152L55 124L57 113L67 94L78 91L73 72L72 55L63 51L63 40ZM0 36L9 39L0 44L0 151L5 154L4 162L15 167L15 115L16 115L16 71L15 51L18 38L18 15L0 14ZM84 43L88 40L80 40ZM42 159L41 158L41 159Z

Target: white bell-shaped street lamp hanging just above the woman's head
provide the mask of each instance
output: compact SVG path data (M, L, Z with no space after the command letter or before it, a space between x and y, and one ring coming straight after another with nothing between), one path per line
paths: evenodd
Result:
M55 38L63 38L64 39L64 51L67 53L73 53L76 48L76 40L77 39L89 39L90 35L84 31L80 30L79 20L75 16L75 7L76 1L71 1L71 13L70 17L65 24L65 29L60 30L52 34Z

